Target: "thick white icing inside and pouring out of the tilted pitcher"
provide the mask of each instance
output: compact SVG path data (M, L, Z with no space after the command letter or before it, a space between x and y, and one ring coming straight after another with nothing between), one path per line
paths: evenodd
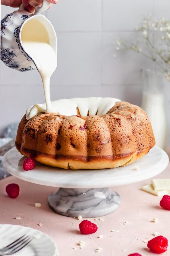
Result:
M50 77L57 67L56 54L49 44L46 28L38 20L32 19L25 23L21 32L22 45L28 55L34 60L43 82L47 113L53 112L50 100ZM37 107L39 106L36 104ZM56 111L55 111L56 112Z

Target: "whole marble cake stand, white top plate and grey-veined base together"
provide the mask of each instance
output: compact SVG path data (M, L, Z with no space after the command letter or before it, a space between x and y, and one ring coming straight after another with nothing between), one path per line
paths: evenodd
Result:
M17 178L32 183L59 187L48 197L50 208L69 217L93 218L117 210L120 196L109 187L142 181L161 173L168 165L168 155L159 147L152 148L142 159L127 166L102 170L64 170L36 164L34 170L24 171L24 157L16 148L4 158L4 168ZM134 167L139 166L140 171Z

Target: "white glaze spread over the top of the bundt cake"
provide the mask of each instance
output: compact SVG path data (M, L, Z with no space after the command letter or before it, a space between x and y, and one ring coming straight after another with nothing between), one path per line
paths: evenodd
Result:
M101 97L89 97L89 98L71 98L60 99L52 101L53 113L59 113L60 115L77 115L77 108L79 109L81 116L89 115L104 115L115 104L120 101L117 98L101 98ZM49 113L46 108L46 104L35 104L30 106L26 111L26 118L29 120L38 113Z

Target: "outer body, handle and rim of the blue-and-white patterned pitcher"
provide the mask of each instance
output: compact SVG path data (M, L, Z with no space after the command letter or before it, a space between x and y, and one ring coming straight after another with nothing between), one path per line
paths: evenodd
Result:
M46 11L49 2L43 0L42 6L38 6L34 14L24 9L21 4L18 11L7 14L1 20L1 60L9 68L18 71L28 71L36 69L34 60L24 50L21 31L26 22L31 19L38 20L47 30L49 44L57 55L57 38L51 22L40 13ZM34 28L32 28L34 29ZM29 31L28 31L29 33Z

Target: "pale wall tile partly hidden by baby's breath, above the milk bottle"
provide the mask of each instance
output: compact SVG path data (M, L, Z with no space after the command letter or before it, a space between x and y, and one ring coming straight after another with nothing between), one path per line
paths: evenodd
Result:
M102 84L141 84L140 69L152 67L152 62L136 52L116 51L116 39L131 39L133 32L102 33ZM116 55L116 57L114 57Z

